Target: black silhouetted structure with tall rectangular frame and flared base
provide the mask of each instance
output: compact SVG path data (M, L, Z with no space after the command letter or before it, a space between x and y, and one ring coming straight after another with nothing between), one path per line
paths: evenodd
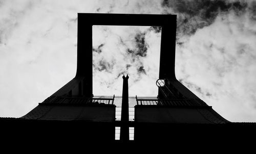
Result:
M122 76L122 96L93 95L93 25L161 26L158 96L129 96L128 75ZM254 138L255 123L226 120L176 79L175 45L176 15L78 13L75 78L23 117L1 118L2 138L120 145L222 144Z

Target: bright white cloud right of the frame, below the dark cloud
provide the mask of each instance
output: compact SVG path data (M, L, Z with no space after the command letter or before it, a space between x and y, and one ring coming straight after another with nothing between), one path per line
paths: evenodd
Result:
M248 14L220 15L177 46L178 78L231 121L255 121L256 31L247 26L255 27L252 22Z

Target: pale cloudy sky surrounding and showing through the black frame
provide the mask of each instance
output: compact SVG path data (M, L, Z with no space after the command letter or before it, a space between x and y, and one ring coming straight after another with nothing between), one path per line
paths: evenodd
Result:
M77 13L176 14L176 78L232 122L256 122L256 1L1 1L0 117L21 117L76 73ZM142 19L143 20L143 19ZM159 27L93 27L93 93L157 95Z

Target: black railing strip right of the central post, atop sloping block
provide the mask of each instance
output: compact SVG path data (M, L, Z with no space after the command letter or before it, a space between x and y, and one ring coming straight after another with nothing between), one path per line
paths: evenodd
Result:
M207 106L201 99L158 99L158 98L138 98L138 106L157 105L157 106Z

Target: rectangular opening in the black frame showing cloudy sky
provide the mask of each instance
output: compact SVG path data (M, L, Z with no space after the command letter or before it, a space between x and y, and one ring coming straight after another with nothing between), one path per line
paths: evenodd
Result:
M93 94L157 96L161 27L93 25Z

